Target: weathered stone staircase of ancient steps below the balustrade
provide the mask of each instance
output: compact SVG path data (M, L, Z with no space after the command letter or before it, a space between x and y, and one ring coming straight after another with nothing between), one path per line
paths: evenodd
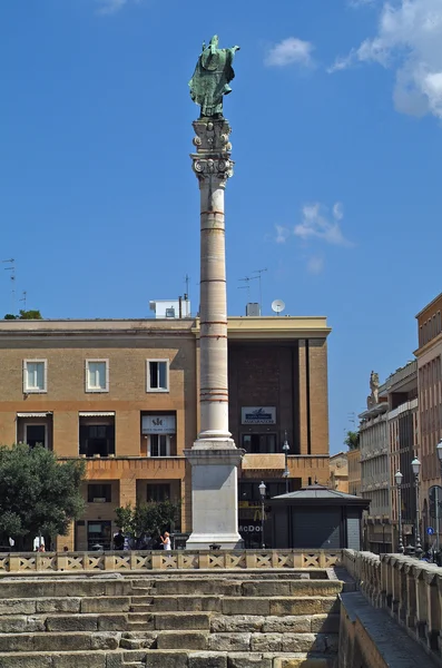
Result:
M8 577L0 668L336 668L342 587L324 571Z

